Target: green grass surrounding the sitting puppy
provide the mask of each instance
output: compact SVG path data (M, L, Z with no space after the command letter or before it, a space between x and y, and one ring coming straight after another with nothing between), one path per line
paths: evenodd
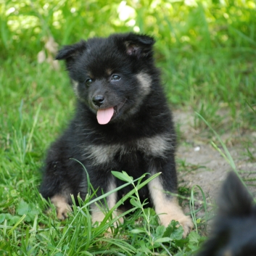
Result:
M0 7L0 255L194 255L205 240L202 234L212 216L208 209L212 205L197 181L192 189L179 188L179 199L191 205L188 212L197 224L186 239L174 222L168 228L158 226L154 210L143 209L145 202L136 195L138 186L128 198L133 214L117 228L110 212L104 222L92 226L90 194L74 206L70 218L57 220L52 205L38 194L40 168L49 144L72 117L75 99L65 67L54 70L47 62L38 64L36 54L44 49L49 35L62 45L136 27L141 33L153 34L158 39L157 65L172 107L191 112L191 129L197 138L209 144L214 141L216 150L225 149L231 168L236 165L227 154L228 142L218 139L227 133L236 139L232 147L245 145L239 161L254 165L255 7L249 1L207 7L200 1L194 7L144 1L136 6L136 16L129 18L136 23L129 26L129 20L120 20L115 12L119 1L86 3L88 12L73 1L47 5L40 0L31 6L28 1L8 0ZM127 5L133 3L127 1ZM70 12L71 8L76 12ZM186 136L177 128L183 143ZM181 177L206 169L183 159L177 162ZM250 189L255 187L252 173L239 173ZM119 178L133 182L124 173ZM202 206L197 208L197 202ZM44 212L46 207L52 207L49 215ZM113 235L105 236L109 226Z

